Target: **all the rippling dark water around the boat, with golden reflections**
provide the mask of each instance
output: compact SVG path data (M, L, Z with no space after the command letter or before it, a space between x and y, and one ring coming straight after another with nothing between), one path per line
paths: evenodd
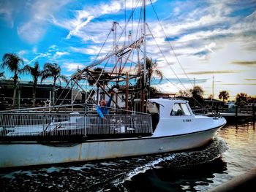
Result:
M207 191L256 166L255 124L227 125L197 150L1 170L1 191Z

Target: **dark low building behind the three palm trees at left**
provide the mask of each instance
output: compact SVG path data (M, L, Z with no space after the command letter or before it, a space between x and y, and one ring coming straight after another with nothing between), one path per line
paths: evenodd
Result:
M60 85L56 85L56 104L61 104L64 97L66 97L63 104L71 103L73 99L74 103L83 102L83 94L77 89L69 91L70 88L64 89ZM42 107L49 103L52 98L53 85L51 84L38 84L36 90L36 102L35 107ZM13 96L13 81L12 80L0 80L0 110L10 110L12 108L12 96ZM17 88L17 106L18 108L32 107L33 104L33 82L19 82Z

